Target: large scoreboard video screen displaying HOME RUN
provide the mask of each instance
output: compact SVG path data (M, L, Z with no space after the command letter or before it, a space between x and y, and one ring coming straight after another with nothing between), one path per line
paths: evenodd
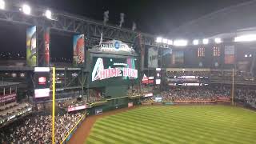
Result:
M105 84L110 84L137 79L138 70L136 62L136 58L94 57L91 83L105 82Z

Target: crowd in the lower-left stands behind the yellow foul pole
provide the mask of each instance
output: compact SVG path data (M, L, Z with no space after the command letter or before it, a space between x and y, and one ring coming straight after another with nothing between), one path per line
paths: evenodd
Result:
M55 117L55 142L61 143L82 118L82 113L58 114ZM50 114L31 114L0 130L0 143L51 143Z

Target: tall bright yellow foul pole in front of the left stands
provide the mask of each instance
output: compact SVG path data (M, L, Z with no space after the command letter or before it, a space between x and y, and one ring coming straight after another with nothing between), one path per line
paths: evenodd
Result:
M52 80L52 87L53 87L53 112L52 112L52 143L55 144L55 67L52 68L53 70L53 80Z

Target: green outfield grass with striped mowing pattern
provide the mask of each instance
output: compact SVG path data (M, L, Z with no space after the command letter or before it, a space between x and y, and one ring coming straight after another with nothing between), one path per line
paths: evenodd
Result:
M256 112L232 106L148 106L98 119L86 143L256 143Z

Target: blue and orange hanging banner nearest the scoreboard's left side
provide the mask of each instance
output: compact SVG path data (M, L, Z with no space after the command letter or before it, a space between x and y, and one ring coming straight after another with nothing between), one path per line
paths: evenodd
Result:
M85 62L85 36L84 34L74 35L73 38L73 64L82 66Z

